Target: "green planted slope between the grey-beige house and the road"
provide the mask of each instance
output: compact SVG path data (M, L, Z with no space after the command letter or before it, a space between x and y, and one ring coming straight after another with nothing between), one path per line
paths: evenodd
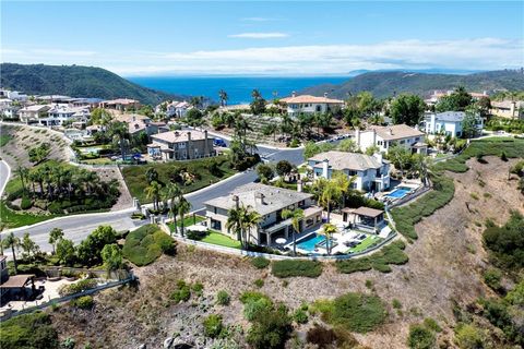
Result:
M215 173L212 173L212 164L216 164L218 167L218 171ZM194 192L236 173L236 171L230 168L230 163L226 156L189 161L136 165L122 168L122 174L131 192L131 196L138 197L142 204L151 203L151 198L147 198L145 195L145 188L147 186L145 172L150 168L156 169L158 172L158 181L163 185L169 183L171 177L179 173L182 169L187 169L189 172L195 174L196 179L194 182L190 184L180 183L180 188L184 193Z

